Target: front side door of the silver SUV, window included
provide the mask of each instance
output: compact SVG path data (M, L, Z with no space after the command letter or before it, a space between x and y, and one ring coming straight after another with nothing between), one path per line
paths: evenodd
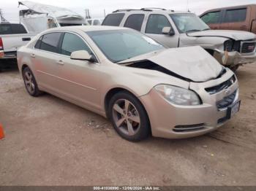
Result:
M155 39L157 42L160 42L167 47L178 47L179 34L177 34L177 32L173 36L162 34L162 28L164 27L173 28L170 23L169 15L149 14L146 27L143 28L142 32L148 36L151 36L152 39Z

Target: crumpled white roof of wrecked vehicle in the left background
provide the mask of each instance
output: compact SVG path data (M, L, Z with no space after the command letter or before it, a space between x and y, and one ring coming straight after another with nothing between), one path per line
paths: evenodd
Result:
M72 12L69 9L62 8L62 7L55 7L48 4L39 4L33 1L19 1L18 4L22 4L29 9L33 10L34 12L38 13L46 13L50 17L82 17L76 12ZM83 18L83 17L82 17Z

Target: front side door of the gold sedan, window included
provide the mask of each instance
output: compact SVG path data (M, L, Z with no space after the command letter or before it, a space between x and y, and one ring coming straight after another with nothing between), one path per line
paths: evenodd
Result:
M100 108L101 71L99 63L77 61L70 59L74 51L86 50L90 55L92 50L78 34L66 32L60 46L61 60L59 61L59 90L62 96L75 103L89 107Z

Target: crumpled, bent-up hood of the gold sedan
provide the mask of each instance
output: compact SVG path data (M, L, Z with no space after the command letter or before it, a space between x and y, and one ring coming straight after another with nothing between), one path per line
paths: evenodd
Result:
M218 61L199 46L171 48L146 59L194 82L215 79L222 71Z

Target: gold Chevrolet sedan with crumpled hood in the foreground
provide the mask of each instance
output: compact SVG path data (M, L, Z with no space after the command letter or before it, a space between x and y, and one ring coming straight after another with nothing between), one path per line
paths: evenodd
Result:
M238 79L201 47L167 49L129 28L53 28L18 50L27 92L96 112L129 141L216 130L239 110Z

